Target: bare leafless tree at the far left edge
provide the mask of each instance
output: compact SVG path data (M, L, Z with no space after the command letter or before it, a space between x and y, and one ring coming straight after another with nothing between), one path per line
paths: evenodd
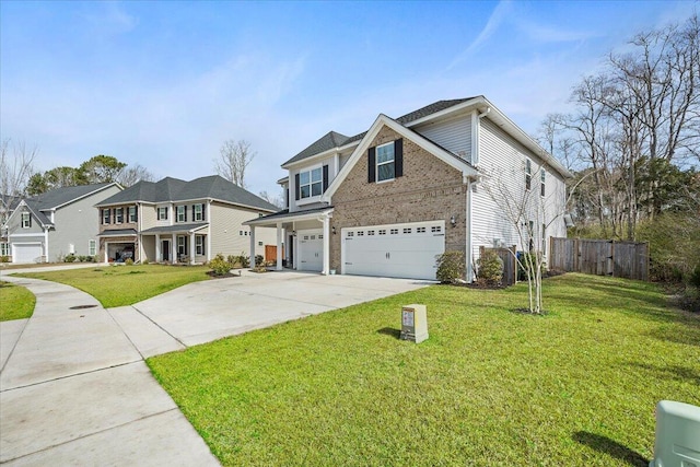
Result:
M12 197L25 195L33 172L34 159L38 154L36 145L27 148L24 141L0 144L0 209L9 208Z

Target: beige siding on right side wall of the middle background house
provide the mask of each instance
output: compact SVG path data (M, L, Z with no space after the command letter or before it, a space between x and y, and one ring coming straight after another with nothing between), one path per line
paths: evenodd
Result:
M257 218L259 211L212 202L210 212L211 252L209 253L211 256L218 253L224 256L241 255L241 253L249 255L250 227L243 225L243 222ZM244 235L241 235L241 232ZM262 246L259 246L258 242L262 242ZM255 254L265 255L265 245L277 245L275 229L257 227L255 230Z

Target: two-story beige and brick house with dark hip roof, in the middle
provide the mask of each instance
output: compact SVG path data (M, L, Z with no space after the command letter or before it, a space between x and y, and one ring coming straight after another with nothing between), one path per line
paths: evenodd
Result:
M247 253L250 230L243 222L278 209L218 175L139 182L95 207L102 260L189 264ZM275 231L258 234L254 255L264 255Z

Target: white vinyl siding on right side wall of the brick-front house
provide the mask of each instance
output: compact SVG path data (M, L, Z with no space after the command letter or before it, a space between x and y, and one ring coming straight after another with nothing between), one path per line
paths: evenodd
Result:
M503 246L516 245L518 250L527 248L527 245L521 244L515 226L503 214L505 202L497 203L490 192L498 195L499 189L506 189L513 199L520 199L525 192L525 164L528 157L532 160L532 191L527 217L535 221L537 229L541 229L538 218L547 222L557 218L546 235L565 236L560 215L564 205L563 177L547 170L546 196L541 198L539 168L542 162L488 118L480 121L479 168L487 176L477 185L476 192L471 192L472 258L478 258L479 246L491 247L497 238ZM540 215L541 209L545 209L545 213Z

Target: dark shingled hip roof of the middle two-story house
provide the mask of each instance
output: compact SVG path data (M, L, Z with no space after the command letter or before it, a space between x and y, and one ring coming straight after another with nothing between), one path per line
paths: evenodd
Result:
M191 182L172 177L165 177L159 182L139 182L95 206L124 205L137 201L177 202L198 199L215 199L270 212L278 210L275 205L219 175L195 178Z

